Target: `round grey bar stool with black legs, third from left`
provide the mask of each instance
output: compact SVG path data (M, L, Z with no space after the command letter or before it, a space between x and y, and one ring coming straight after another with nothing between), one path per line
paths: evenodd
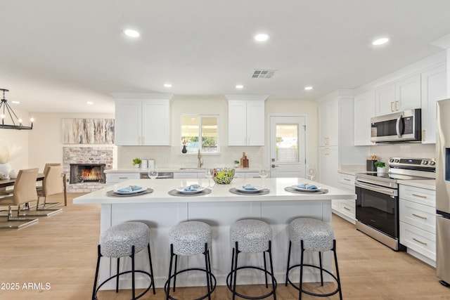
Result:
M270 295L274 295L276 300L276 279L274 277L274 264L272 263L272 229L264 221L259 220L240 220L233 223L230 228L230 242L233 247L233 254L231 256L231 272L226 277L226 285L233 293L233 299L236 296L244 299L264 299ZM240 266L238 267L238 255L241 253L259 253L262 252L264 259L264 268L257 266ZM270 271L267 270L266 253L269 254ZM267 275L271 277L271 292L262 296L247 296L236 292L236 284L238 277L238 270L241 269L256 269L264 272L266 288L269 288Z

